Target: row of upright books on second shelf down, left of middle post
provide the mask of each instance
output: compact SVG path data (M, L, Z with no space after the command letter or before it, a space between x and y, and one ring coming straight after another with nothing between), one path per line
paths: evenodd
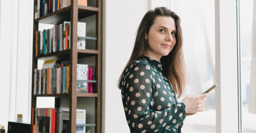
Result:
M69 21L54 25L52 29L35 32L35 56L70 49Z

